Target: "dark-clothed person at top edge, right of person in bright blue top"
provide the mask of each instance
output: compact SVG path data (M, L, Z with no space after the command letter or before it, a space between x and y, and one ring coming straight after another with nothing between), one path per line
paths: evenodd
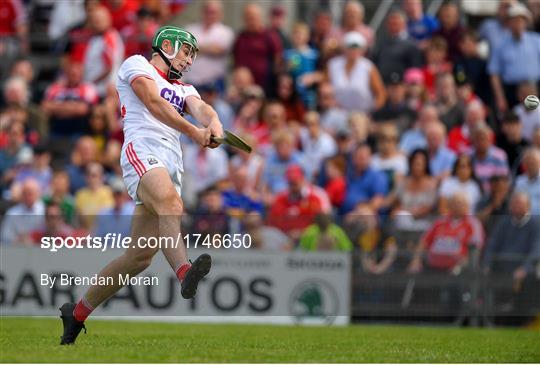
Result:
M448 44L448 60L455 62L460 56L459 39L464 29L461 26L458 4L452 1L443 3L437 16L441 27L434 36L441 36Z

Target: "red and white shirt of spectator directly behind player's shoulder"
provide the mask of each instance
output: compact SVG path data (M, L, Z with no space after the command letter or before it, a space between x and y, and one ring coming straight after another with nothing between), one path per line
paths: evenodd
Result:
M123 59L124 42L115 29L111 28L101 35L93 36L84 56L84 80L93 82L99 96L104 96L107 85L112 83L118 74ZM94 82L108 67L111 68L108 77Z

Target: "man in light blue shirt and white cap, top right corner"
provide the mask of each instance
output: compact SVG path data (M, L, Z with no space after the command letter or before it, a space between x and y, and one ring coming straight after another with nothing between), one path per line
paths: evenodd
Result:
M540 35L527 31L531 14L525 5L513 4L508 9L510 34L490 55L488 72L499 112L518 103L517 87L521 82L540 82Z

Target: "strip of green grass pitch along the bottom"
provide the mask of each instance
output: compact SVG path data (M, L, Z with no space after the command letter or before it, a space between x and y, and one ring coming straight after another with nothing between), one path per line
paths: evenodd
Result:
M540 332L91 320L59 346L57 319L0 318L2 362L540 362Z

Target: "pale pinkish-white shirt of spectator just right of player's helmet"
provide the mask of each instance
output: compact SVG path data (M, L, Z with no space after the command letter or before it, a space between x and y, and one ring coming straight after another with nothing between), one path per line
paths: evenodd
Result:
M201 23L195 23L188 25L186 29L197 38L199 48L217 44L224 52L218 57L199 54L191 70L186 73L185 79L194 85L203 85L225 77L229 53L234 42L232 29L222 23L213 24L208 29Z

